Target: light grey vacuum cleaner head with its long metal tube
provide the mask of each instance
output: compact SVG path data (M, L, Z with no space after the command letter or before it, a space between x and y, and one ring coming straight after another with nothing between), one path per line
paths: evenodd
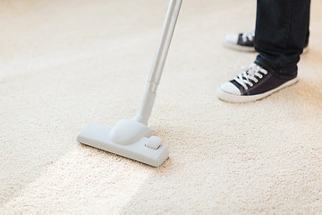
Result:
M157 56L152 64L148 85L137 116L132 119L121 119L114 127L86 125L77 136L77 142L153 167L159 167L169 157L169 150L163 144L162 139L154 136L148 128L148 118L156 99L157 86L163 72L181 4L182 0L170 1L157 48Z

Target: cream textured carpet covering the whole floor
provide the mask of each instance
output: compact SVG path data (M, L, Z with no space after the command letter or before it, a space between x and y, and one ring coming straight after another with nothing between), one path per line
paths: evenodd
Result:
M322 2L300 82L229 104L254 0L184 0L149 126L160 168L75 141L140 106L165 0L0 1L0 214L322 214Z

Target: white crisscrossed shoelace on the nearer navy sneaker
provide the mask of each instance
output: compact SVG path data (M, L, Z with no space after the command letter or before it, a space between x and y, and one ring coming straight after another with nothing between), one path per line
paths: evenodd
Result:
M242 66L243 73L238 74L234 81L242 85L245 90L248 90L249 85L252 87L253 82L258 82L258 79L263 78L263 74L267 74L267 71L260 67L258 64L250 64L249 66Z

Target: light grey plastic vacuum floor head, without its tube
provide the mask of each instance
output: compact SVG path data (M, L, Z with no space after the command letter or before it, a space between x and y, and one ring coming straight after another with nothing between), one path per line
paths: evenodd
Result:
M114 127L86 125L77 136L77 142L153 167L159 167L169 157L162 139L153 136L147 125L131 119L122 119Z

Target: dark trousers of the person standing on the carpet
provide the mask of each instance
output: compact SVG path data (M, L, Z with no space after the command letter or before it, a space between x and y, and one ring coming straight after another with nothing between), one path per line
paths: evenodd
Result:
M297 75L297 63L309 42L310 0L258 0L255 63L280 77Z

